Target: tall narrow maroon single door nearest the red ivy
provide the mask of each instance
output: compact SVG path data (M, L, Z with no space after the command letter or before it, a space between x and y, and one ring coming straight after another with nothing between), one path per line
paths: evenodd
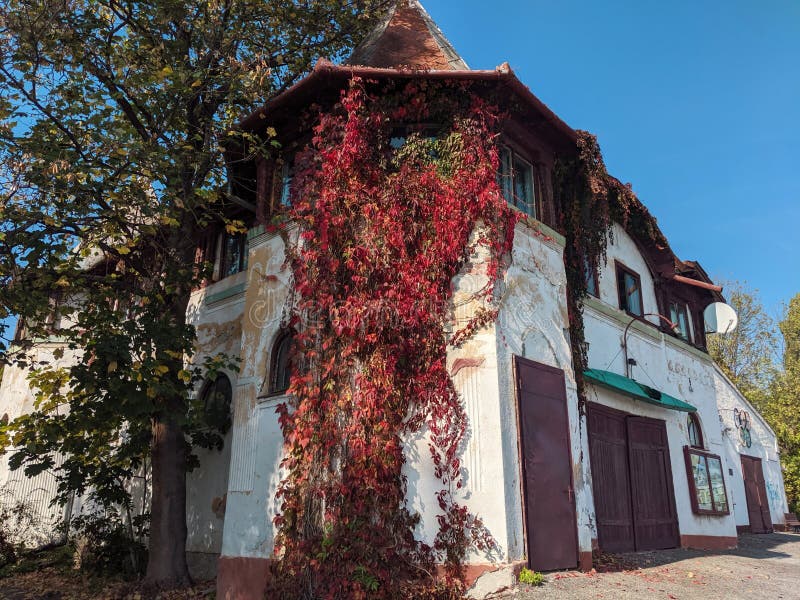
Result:
M515 357L528 561L537 571L578 564L578 530L564 372Z

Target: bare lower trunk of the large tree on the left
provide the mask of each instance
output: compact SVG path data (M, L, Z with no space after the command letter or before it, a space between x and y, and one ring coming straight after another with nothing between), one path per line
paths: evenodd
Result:
M150 515L150 554L145 582L158 589L191 585L186 564L186 440L166 403L164 414L153 419L153 495ZM173 410L170 410L173 409Z

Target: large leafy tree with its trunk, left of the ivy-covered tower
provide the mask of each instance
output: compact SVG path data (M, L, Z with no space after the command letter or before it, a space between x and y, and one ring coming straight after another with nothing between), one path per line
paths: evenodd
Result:
M226 218L224 149L265 153L243 115L340 57L384 10L352 2L7 0L0 4L0 321L26 343L0 362L36 367L37 410L4 428L14 466L53 469L61 493L128 502L152 464L147 580L189 581L187 436L215 443L190 402L185 315L207 274L200 232ZM2 332L0 332L2 333ZM57 334L73 366L33 363ZM209 365L213 370L220 363ZM64 463L56 461L56 454Z

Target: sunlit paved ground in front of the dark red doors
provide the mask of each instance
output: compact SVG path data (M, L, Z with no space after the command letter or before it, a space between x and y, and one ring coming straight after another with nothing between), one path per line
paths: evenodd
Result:
M800 600L800 534L742 535L723 552L666 550L608 557L607 573L550 573L504 599Z

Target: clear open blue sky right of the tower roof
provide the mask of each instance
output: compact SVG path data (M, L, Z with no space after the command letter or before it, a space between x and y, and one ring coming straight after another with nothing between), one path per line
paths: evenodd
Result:
M673 250L800 293L800 2L422 0L473 69L508 61L598 136Z

